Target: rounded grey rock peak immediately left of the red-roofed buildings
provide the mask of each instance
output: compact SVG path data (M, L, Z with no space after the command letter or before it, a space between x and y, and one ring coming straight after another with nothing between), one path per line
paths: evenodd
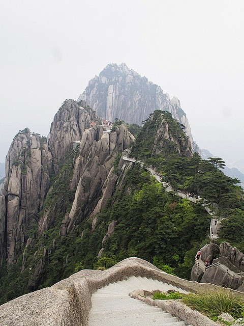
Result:
M91 122L102 124L102 119L85 101L66 100L56 113L51 124L49 147L55 161L64 158L72 143L80 141L82 133Z

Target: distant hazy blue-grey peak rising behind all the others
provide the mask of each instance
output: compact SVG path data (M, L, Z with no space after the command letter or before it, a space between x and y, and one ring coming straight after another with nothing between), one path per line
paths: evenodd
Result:
M78 101L82 99L92 105L100 116L110 121L119 118L128 123L141 124L155 110L169 111L174 119L186 126L194 150L199 150L179 100L176 97L170 100L160 86L141 77L124 63L107 65L99 76L89 81Z

